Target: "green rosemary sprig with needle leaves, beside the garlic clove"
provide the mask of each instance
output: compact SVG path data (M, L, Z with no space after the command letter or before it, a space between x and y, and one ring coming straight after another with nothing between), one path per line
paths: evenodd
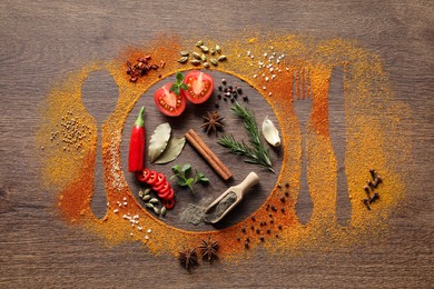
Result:
M229 148L233 153L247 157L246 162L263 166L274 172L269 150L260 140L262 134L254 113L238 102L234 103L231 110L243 119L251 147L244 141L236 141L233 134L223 136L217 142L225 148Z

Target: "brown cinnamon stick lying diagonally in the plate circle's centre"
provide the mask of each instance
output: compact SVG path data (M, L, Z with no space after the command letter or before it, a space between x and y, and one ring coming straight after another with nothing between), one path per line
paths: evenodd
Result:
M233 177L230 170L217 158L211 149L204 142L204 140L190 129L185 134L187 141L199 152L199 155L208 162L209 166L220 176L224 180L228 180Z

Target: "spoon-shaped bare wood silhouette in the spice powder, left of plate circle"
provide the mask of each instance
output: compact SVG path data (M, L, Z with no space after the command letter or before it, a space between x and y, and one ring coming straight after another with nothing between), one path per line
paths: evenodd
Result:
M101 126L106 118L116 107L119 90L112 77L106 71L91 72L81 88L81 99L86 110L97 122L97 153L93 171L93 197L91 209L93 215L101 219L107 210L107 196L105 188L103 162L102 162L102 130Z

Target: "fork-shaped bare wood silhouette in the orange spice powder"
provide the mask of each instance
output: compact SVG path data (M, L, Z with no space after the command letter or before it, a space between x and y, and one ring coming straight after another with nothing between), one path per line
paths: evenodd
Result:
M307 124L312 114L312 89L309 70L300 67L294 70L293 81L293 106L294 113L297 117L300 126L302 134L302 173L299 179L299 193L296 205L298 219L302 223L306 223L312 216L313 202L309 196L307 180L307 155L306 155L306 136Z

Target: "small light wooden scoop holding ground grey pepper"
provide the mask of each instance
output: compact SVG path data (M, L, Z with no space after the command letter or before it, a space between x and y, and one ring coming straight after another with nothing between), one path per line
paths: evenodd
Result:
M204 220L210 223L216 223L221 220L231 209L235 208L235 206L238 205L238 202L243 200L243 197L248 191L248 189L250 189L258 182L258 175L251 171L241 183L227 189L224 193L220 195L220 197L218 197L214 202L211 202L208 208L205 209ZM224 198L226 198L226 200L220 203ZM216 210L220 209L218 206L220 206L224 211L218 213L217 216L213 216Z

